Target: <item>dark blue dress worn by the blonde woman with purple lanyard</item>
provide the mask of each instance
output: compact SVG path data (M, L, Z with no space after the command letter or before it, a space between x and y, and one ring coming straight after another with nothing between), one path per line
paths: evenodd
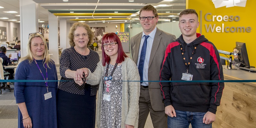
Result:
M43 60L36 60L45 79L46 71L43 66ZM49 64L47 68L48 80L58 80L55 64ZM31 64L28 60L22 61L16 70L15 80L44 80L35 61ZM52 92L52 98L44 100L44 94L47 92L44 82L15 82L14 96L16 103L26 102L28 115L32 120L34 128L57 128L57 111L56 111L56 92L58 81L48 82L48 91ZM18 108L18 127L24 128L22 114ZM27 118L27 117L24 117Z

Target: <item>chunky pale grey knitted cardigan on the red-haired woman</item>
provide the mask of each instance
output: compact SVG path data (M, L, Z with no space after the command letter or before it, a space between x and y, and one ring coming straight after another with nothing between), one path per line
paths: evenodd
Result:
M87 77L87 84L99 85L99 94L97 98L97 110L96 110L96 121L97 127L100 128L100 112L101 112L101 98L102 89L104 85L102 82L102 76L105 67L102 66L100 61L97 64L97 68L92 73L90 70L89 76ZM127 125L133 125L134 128L138 127L139 118L139 98L140 98L140 75L136 64L132 59L126 57L122 62L122 75L123 75L123 91L122 91L122 121L121 128ZM135 82L137 81L137 82Z

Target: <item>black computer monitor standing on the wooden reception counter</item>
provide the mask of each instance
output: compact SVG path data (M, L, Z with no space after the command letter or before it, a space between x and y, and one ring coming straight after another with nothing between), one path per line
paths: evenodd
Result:
M238 59L240 61L239 67L250 68L249 58L246 50L245 43L236 42L236 52L238 53Z

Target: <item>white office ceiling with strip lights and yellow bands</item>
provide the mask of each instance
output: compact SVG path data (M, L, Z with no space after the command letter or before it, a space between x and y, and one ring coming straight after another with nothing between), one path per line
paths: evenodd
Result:
M134 0L134 2L129 2L129 0L69 0L68 2L63 2L62 0L33 0L38 3L38 19L48 23L48 11L53 13L59 18L67 19L68 23L73 23L77 21L86 22L101 22L102 20L111 22L124 20L132 20L138 18L137 16L131 16L135 14L145 5L151 4L157 6L159 4L166 4L165 7L156 7L158 15L161 19L167 21L174 15L178 17L177 13L186 9L186 0ZM116 3L118 1L118 3ZM20 1L19 0L0 0L0 18L8 17L9 19L0 19L3 21L8 21L16 19L20 21L20 17L15 16L20 14ZM3 11L17 11L18 13L4 13ZM70 13L74 11L74 13ZM118 13L114 13L118 11ZM167 12L170 11L170 12ZM167 12L167 13L166 13ZM78 17L78 19L76 19ZM109 19L108 17L112 17ZM173 19L173 20L177 20ZM160 20L161 21L161 20ZM12 22L12 21L11 21ZM13 21L15 22L15 21Z

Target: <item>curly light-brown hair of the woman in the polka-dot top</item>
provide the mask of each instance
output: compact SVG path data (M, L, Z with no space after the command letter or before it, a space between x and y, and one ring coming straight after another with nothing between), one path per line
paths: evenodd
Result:
M86 23L83 23L83 22L77 22L77 23L74 23L72 25L72 27L70 28L70 31L68 33L68 38L69 38L69 44L71 47L74 47L76 44L74 42L74 32L76 30L77 27L84 27L85 30L87 30L87 34L88 34L88 38L89 38L89 42L87 44L87 47L93 43L93 38L94 38L94 33L92 31L92 29L90 28L90 26Z

